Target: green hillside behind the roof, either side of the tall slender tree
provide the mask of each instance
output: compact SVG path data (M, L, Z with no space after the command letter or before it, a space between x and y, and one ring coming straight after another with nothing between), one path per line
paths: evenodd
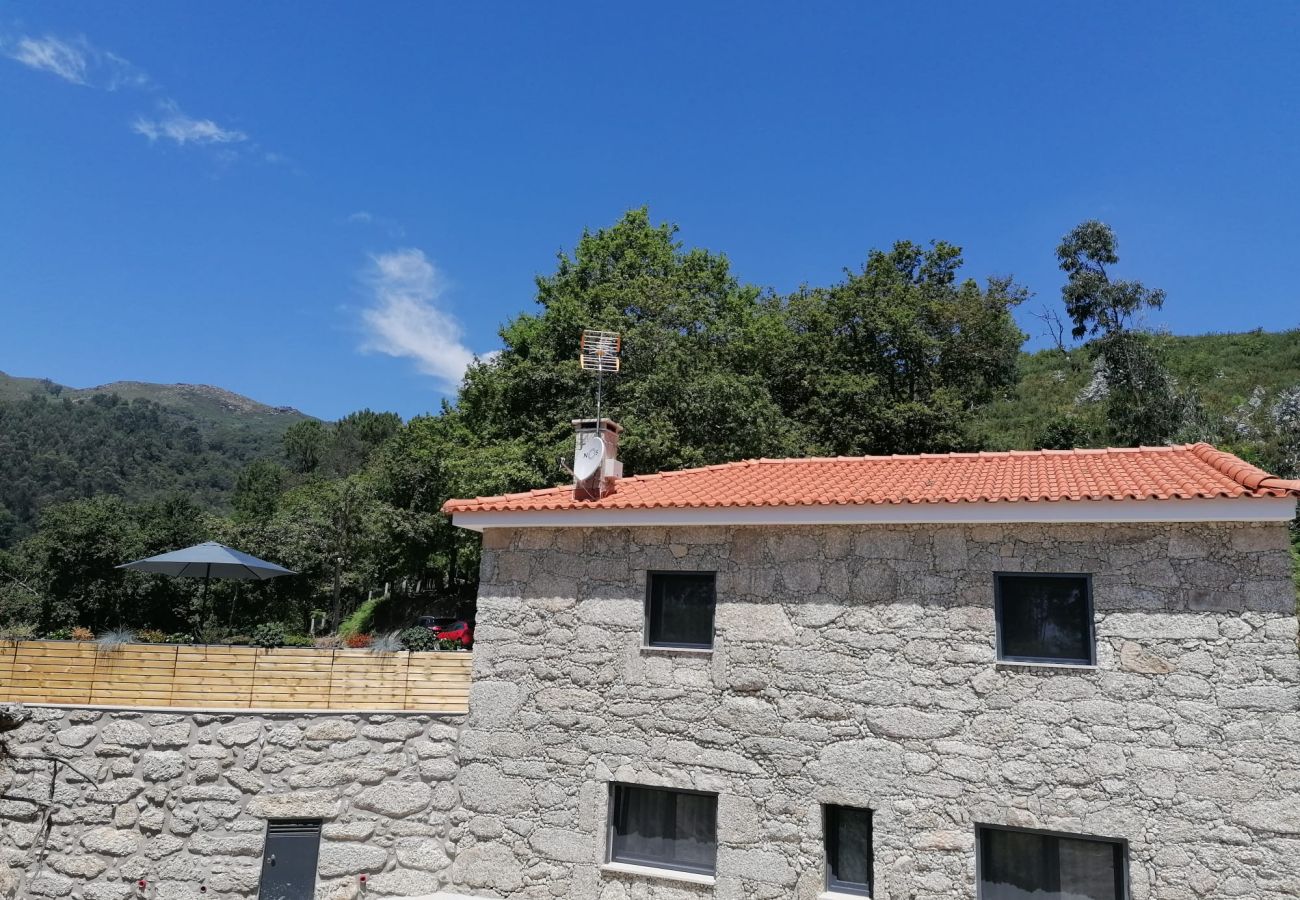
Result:
M1161 343L1179 386L1195 391L1210 423L1232 416L1256 391L1271 398L1300 385L1300 329L1167 336ZM1088 415L1076 402L1092 375L1086 350L1023 354L1019 371L1014 393L985 407L972 425L974 441L985 450L1032 449L1046 423Z

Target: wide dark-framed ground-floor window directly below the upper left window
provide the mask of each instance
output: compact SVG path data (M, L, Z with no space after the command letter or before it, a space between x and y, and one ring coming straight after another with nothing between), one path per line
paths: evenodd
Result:
M712 875L718 795L610 786L610 862Z

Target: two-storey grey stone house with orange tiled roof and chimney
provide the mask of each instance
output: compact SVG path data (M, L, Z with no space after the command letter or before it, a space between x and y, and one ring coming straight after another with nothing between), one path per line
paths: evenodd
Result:
M454 890L1300 896L1300 481L1204 443L616 472L446 507L484 548Z

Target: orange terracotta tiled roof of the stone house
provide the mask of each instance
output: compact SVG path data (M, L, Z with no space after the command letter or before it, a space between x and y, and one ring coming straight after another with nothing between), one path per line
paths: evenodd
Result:
M573 499L569 485L452 499L443 512L849 506L1066 499L1191 499L1300 496L1300 481L1212 447L1011 450L749 459L619 479L612 494Z

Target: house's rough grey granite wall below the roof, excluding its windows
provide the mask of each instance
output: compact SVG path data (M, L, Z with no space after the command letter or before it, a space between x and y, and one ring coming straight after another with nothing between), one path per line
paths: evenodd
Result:
M978 823L1128 843L1134 900L1300 891L1300 659L1260 524L489 529L452 884L809 900L820 804L876 896L975 896ZM647 570L718 572L712 653L642 649ZM1095 668L996 661L993 572L1089 572ZM602 870L610 782L719 795L716 884Z

